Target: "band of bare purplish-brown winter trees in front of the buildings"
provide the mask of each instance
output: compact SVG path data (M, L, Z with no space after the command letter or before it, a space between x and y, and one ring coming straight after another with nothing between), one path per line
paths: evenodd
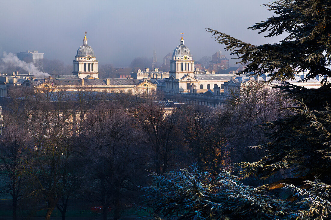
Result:
M196 165L217 175L259 159L262 150L247 148L266 141L258 125L283 118L280 108L288 105L278 89L261 82L231 91L221 109L167 109L146 97L96 100L91 88L76 89L11 90L13 99L2 106L0 192L12 198L14 219L39 210L49 219L54 209L65 219L74 204L102 206L103 219L119 219L147 201L140 187L153 185L149 171L165 176Z

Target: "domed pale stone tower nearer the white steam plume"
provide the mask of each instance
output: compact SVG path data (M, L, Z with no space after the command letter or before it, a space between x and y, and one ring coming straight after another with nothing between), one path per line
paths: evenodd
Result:
M86 76L98 78L98 61L95 59L94 51L87 44L86 32L83 39L83 45L77 50L75 60L73 60L73 74L83 79Z

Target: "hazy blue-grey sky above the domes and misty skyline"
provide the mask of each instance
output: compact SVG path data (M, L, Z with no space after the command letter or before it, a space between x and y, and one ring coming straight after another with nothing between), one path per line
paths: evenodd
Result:
M247 27L271 15L264 0L0 0L0 53L38 50L72 63L87 32L100 64L125 67L139 56L158 62L173 52L184 32L193 59L223 50L206 27L252 44L276 42ZM230 58L230 57L229 57ZM230 61L230 65L233 61Z

